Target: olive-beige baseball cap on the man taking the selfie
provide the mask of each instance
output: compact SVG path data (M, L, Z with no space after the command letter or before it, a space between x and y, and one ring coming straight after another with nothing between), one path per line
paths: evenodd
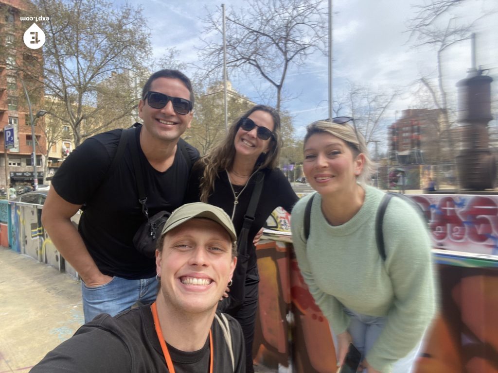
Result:
M164 224L161 236L193 218L206 218L216 221L230 234L232 241L237 241L234 224L227 213L220 207L204 202L186 203L174 210Z

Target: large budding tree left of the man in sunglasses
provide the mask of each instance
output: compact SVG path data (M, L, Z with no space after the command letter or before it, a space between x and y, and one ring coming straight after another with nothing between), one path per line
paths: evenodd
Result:
M46 36L43 59L31 56L22 73L25 80L31 78L29 86L41 86L64 103L59 119L72 129L75 145L130 116L138 104L132 83L108 80L113 72L145 74L142 61L150 43L141 9L117 8L107 0L32 2L49 20L41 25ZM40 71L42 77L36 74Z

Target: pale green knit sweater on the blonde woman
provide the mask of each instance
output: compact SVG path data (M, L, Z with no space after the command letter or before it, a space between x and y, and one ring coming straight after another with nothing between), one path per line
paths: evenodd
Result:
M343 305L357 313L387 316L369 364L382 373L420 341L435 312L431 243L424 222L401 198L391 198L383 220L385 262L375 243L375 214L384 192L365 187L365 202L348 222L331 226L321 195L311 208L310 234L304 238L306 202L292 209L292 239L299 269L336 334L349 325Z

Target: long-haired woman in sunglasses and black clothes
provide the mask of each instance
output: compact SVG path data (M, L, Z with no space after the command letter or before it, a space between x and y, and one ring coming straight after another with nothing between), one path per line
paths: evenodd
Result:
M200 200L223 208L239 235L256 179L264 175L246 242L247 253L239 251L228 302L224 301L222 307L242 325L247 372L254 372L252 340L259 282L253 238L276 207L290 212L298 199L285 175L276 168L281 142L278 112L269 106L253 106L232 124L225 140L194 165L187 191L187 202ZM244 261L247 267L241 265Z

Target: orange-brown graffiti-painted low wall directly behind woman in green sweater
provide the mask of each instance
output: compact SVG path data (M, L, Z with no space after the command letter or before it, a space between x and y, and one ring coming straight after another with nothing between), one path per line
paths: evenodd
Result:
M498 373L498 258L437 252L440 313L414 372ZM255 362L278 372L334 373L328 322L304 283L292 245L264 241L256 253L260 295Z

